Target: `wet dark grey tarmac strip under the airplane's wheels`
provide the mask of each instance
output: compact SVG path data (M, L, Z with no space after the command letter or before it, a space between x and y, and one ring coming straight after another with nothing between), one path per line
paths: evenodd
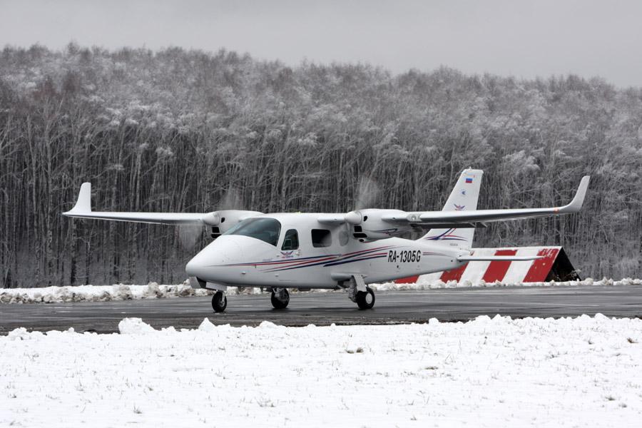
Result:
M215 315L210 297L122 300L113 302L2 305L0 334L28 330L117 332L125 317L139 317L155 328L195 328L203 318L217 325L357 325L472 320L479 315L566 317L595 315L642 317L642 285L575 287L449 288L380 291L373 310L357 310L345 292L293 293L287 310L272 310L270 295L231 295L228 309Z

